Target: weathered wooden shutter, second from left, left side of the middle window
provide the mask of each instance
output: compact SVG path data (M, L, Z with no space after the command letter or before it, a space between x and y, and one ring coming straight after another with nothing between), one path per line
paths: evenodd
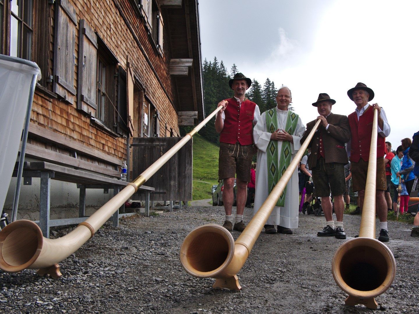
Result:
M96 68L98 41L85 20L79 26L77 109L96 117Z

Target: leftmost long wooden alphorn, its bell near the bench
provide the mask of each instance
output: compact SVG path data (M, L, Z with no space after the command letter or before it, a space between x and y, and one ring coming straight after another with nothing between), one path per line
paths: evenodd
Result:
M118 210L138 188L157 172L192 136L194 136L221 106L186 134L178 143L156 160L134 181L111 198L93 215L79 224L69 234L58 239L42 236L41 229L30 220L18 220L8 224L0 232L0 268L7 272L18 272L27 268L37 269L38 273L49 273L59 277L58 263L77 251L95 232Z

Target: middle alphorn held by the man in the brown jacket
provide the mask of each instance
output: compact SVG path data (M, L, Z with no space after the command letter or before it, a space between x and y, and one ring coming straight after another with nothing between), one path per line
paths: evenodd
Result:
M181 246L180 260L187 273L198 278L215 278L213 288L241 289L236 274L246 262L319 124L320 120L316 122L281 179L235 242L227 229L216 224L199 226L186 236Z

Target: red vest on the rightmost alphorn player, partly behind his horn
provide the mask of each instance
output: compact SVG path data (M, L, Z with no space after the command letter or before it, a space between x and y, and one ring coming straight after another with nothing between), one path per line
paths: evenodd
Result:
M369 106L358 121L357 113L353 112L348 116L349 127L351 128L351 161L358 162L360 158L368 161L370 157L370 143L372 135L372 121L374 110ZM377 136L377 158L385 155L385 138Z

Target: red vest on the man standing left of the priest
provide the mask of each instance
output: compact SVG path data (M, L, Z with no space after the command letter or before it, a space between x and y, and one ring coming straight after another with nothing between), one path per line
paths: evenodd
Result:
M241 145L253 144L253 116L256 103L245 99L240 103L235 98L226 99L224 127L220 134L220 142Z

